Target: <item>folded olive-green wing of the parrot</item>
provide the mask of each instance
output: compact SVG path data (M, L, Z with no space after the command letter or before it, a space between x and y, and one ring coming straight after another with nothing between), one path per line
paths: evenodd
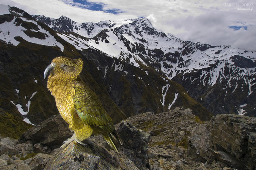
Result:
M110 116L108 116L105 109L102 107L101 101L96 94L86 86L76 86L75 109L82 122L86 125L93 125L100 127L105 133L114 131L114 125Z

